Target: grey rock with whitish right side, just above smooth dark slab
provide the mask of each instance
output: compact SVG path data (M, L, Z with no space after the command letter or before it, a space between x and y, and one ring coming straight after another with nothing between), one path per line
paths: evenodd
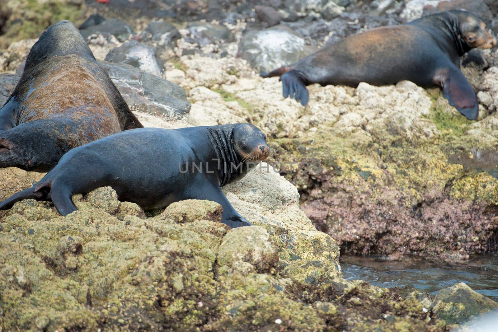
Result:
M126 63L149 74L161 76L161 68L154 53L136 40L127 41L120 47L113 48L106 55L105 60L114 63Z

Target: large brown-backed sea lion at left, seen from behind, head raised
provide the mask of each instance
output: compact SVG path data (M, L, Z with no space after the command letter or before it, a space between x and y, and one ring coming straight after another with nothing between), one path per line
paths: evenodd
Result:
M0 109L0 167L47 172L70 149L142 125L73 23L48 27Z

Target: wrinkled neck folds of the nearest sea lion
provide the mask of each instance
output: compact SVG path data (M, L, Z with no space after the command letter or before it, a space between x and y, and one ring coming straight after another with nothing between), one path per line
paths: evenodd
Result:
M234 179L234 171L237 171L237 178L244 172L244 166L239 167L240 158L233 146L234 131L238 124L225 124L220 126L208 127L207 136L215 151L217 159L216 168L220 186L225 186ZM215 163L216 164L216 163Z

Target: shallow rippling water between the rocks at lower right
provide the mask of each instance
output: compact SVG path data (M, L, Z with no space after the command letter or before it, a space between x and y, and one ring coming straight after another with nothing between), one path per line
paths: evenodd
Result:
M379 287L413 285L417 290L436 295L445 287L465 282L476 292L498 302L498 253L480 255L464 264L449 264L422 259L386 262L375 257L341 256L345 279L365 280Z

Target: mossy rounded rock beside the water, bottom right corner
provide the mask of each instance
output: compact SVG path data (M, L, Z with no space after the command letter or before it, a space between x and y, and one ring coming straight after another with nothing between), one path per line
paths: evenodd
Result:
M474 292L461 282L438 292L432 304L435 317L446 324L462 324L491 310L498 310L498 303Z

